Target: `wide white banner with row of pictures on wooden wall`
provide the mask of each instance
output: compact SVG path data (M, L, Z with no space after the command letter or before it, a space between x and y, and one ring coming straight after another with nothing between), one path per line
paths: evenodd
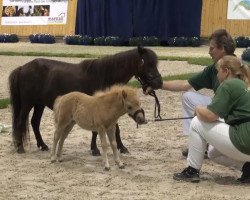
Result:
M66 24L68 0L3 0L1 25Z

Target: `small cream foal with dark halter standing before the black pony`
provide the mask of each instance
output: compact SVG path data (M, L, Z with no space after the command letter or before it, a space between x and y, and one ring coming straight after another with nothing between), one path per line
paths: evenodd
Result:
M138 124L145 122L137 90L128 86L113 86L110 90L89 96L71 92L58 97L54 104L55 133L51 162L62 161L63 143L75 124L81 128L99 133L103 150L105 170L110 170L107 157L106 134L113 150L114 160L124 168L119 158L115 140L115 126L119 117L128 113ZM58 144L59 142L59 144ZM58 149L57 149L58 144ZM57 149L57 152L56 152Z

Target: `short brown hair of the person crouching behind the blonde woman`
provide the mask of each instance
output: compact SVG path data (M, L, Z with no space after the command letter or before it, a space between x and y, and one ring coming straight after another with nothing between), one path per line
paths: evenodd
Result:
M219 49L225 49L227 55L234 55L235 43L232 36L225 29L218 29L209 37L209 41L213 40Z

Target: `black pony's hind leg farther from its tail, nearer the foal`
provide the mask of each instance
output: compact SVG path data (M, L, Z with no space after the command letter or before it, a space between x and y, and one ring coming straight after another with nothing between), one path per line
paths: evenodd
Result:
M31 125L36 137L37 147L41 148L42 151L48 151L49 147L44 143L39 129L44 108L45 106L43 105L34 106L34 112L31 118Z

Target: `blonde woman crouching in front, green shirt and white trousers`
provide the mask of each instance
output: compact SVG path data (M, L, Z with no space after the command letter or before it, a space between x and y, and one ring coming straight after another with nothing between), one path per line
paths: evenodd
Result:
M242 182L250 182L250 72L235 56L217 64L220 86L208 106L198 106L190 126L187 168L175 180L199 182L207 144L225 156L245 163ZM223 118L225 121L220 120Z

